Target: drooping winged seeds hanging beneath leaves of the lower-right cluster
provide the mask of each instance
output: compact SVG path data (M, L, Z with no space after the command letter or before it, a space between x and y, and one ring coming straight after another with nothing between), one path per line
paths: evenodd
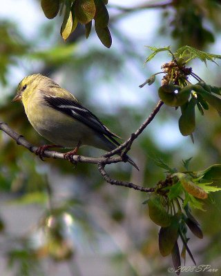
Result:
M189 210L189 206L184 207L182 212L180 207L176 211L173 201L165 201L163 197L154 196L148 199L148 209L150 218L155 224L161 226L159 233L159 249L160 254L166 257L171 254L173 266L177 270L177 275L180 275L179 267L181 266L181 257L186 261L186 251L189 253L193 263L195 260L187 245L189 238L186 236L187 227L196 236L202 239L203 234L193 215ZM170 212L171 208L171 212ZM178 239L182 241L182 252L178 246Z

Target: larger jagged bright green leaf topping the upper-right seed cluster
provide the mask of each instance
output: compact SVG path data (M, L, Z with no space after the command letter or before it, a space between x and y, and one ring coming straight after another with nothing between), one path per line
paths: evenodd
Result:
M214 55L209 54L208 52L202 52L191 46L183 46L177 49L174 55L176 58L183 58L186 63L191 61L192 59L200 59L205 64L207 60L215 62L214 59L221 59L221 55Z

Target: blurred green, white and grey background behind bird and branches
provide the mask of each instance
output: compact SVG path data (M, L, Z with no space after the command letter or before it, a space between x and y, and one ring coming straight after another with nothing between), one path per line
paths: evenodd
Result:
M61 18L48 20L39 1L3 1L0 11L0 116L32 144L46 141L28 123L19 103L11 103L17 83L41 72L55 79L99 117L117 135L128 138L157 103L160 78L153 86L139 85L170 57L162 53L144 66L146 46L173 50L189 45L220 54L220 1L108 2L113 38L105 48L95 35L84 37L83 26L64 42ZM133 8L135 5L139 8ZM123 7L123 8L122 8ZM220 68L199 61L193 71L206 83L221 86ZM195 144L182 137L179 110L163 106L153 123L130 151L140 172L128 164L108 166L116 179L154 186L164 171L151 159L157 155L169 166L181 168L193 157L191 170L220 163L221 124L215 110L198 117ZM110 186L96 166L64 160L42 162L0 133L0 273L1 275L171 275L171 258L158 250L158 226L148 218L142 202L147 195ZM82 148L87 156L101 150ZM195 217L204 239L191 233L189 247L198 265L209 264L221 273L221 195L205 201L206 212ZM187 258L186 266L193 266ZM198 273L184 273L198 275ZM200 275L207 275L201 272Z

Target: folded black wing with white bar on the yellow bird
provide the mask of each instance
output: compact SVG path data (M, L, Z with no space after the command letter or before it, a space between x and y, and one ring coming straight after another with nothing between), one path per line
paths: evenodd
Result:
M54 108L70 117L77 119L78 121L81 121L83 124L86 124L86 126L89 126L100 134L106 135L106 137L111 139L111 141L119 146L119 143L113 137L120 137L111 132L111 130L108 130L108 128L102 124L102 121L100 121L92 112L90 112L90 110L84 108L84 106L81 106L81 104L77 101L64 99L61 97L52 97L48 95L44 95L44 100L51 108Z

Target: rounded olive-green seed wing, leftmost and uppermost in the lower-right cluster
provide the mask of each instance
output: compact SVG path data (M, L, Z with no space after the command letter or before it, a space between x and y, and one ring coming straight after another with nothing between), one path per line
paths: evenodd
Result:
M169 226L171 224L172 216L166 212L162 203L160 202L160 197L151 197L148 199L149 216L151 220L162 227Z

